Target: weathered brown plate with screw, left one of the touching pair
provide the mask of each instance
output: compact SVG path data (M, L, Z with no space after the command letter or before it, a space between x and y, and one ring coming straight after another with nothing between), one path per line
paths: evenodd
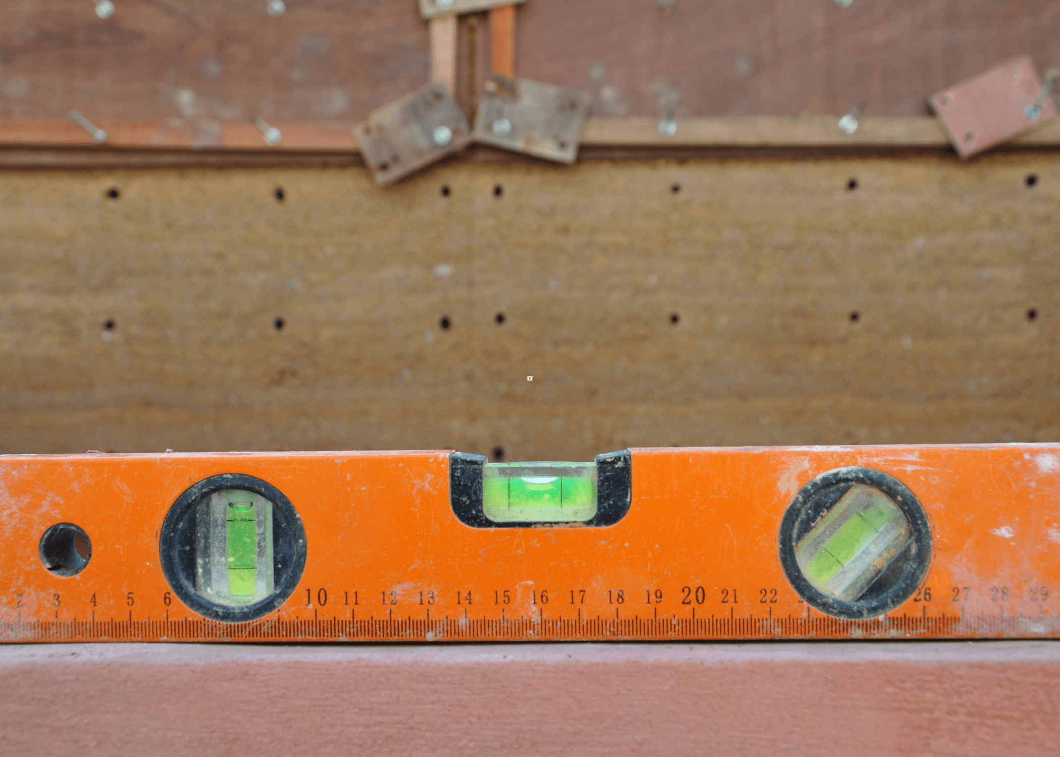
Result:
M375 181L389 184L463 149L470 131L449 90L431 83L373 110L353 136Z

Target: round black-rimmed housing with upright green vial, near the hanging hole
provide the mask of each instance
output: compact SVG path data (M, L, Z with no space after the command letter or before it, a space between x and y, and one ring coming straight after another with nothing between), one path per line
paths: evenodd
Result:
M305 529L279 489L223 474L177 498L162 522L158 551L180 601L212 620L246 622L295 592L305 568Z

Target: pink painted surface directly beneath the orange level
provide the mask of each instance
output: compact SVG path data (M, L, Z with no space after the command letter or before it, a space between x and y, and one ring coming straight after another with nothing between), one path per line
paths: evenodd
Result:
M0 648L0 754L1055 755L1060 642Z

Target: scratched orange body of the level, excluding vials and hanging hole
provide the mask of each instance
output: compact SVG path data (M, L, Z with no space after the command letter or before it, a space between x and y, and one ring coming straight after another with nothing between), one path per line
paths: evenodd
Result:
M0 457L0 638L540 640L1060 636L1060 445L633 450L629 514L606 528L473 529L447 452ZM801 602L777 556L799 488L846 465L920 499L917 594L846 621ZM166 512L222 473L262 478L305 526L298 588L240 624L204 620L159 567ZM77 576L41 564L56 523L88 533ZM1043 591L1043 588L1045 591Z

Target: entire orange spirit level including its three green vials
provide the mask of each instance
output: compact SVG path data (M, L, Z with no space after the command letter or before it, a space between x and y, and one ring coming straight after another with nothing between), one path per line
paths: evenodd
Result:
M5 641L1060 637L1060 445L0 457Z

